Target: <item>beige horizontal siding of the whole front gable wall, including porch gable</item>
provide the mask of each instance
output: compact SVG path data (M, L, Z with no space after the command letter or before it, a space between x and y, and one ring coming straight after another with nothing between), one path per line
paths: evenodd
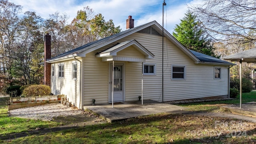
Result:
M118 42L136 39L142 46L154 54L154 59L145 62L156 64L156 75L143 76L144 100L162 101L162 37L156 35L134 33ZM83 58L83 100L84 105L109 102L110 96L110 65L96 58L96 50ZM144 58L136 48L130 46L117 53L117 56ZM115 62L116 63L116 62ZM142 95L142 62L117 62L125 66L124 101L138 100ZM186 66L185 80L172 80L172 65ZM214 66L221 68L221 79L214 79ZM177 46L164 38L164 101L204 98L228 95L228 66L194 64Z

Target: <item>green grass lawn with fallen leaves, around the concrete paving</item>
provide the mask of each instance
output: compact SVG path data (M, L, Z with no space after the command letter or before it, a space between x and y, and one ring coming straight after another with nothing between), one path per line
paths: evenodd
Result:
M243 94L243 102L256 101L256 92ZM180 104L190 110L213 111L220 104L236 104L239 99ZM7 107L0 106L1 136L28 132L36 128L60 126L8 117ZM28 134L3 144L251 144L256 143L256 124L231 118L184 114L154 114L121 122L59 130L46 134Z

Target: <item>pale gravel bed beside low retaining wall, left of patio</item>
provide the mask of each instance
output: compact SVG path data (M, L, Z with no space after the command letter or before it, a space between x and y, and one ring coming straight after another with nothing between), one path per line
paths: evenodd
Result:
M8 113L9 116L20 118L52 120L54 117L58 116L75 116L84 114L85 112L74 107L68 108L67 106L64 106L60 103L52 103L9 110Z

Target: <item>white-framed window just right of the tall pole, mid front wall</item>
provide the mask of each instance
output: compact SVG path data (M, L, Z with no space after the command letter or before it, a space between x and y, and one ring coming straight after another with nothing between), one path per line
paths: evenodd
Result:
M172 65L172 80L185 80L186 66Z

